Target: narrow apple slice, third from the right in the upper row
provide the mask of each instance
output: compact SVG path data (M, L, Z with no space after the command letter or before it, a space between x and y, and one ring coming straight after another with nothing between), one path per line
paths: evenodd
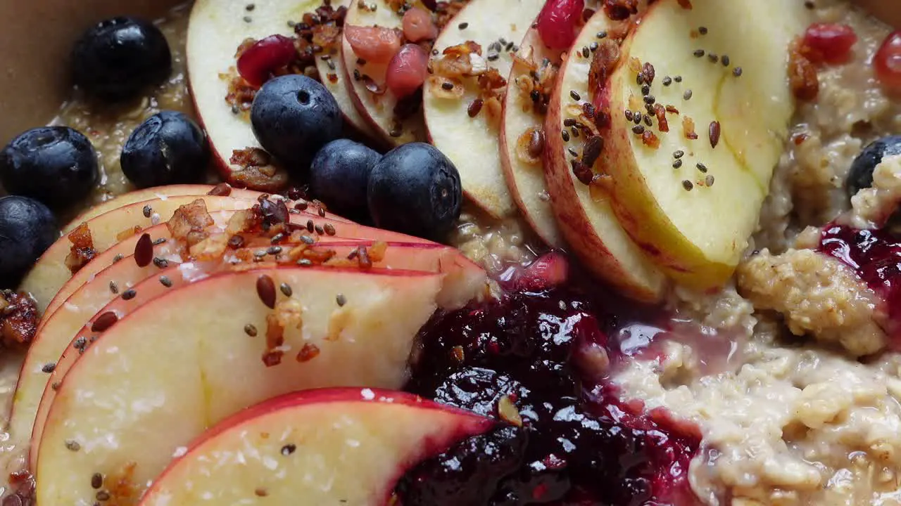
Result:
M542 42L538 29L531 28L523 37L517 54L523 65L514 61L504 101L504 120L501 122L501 167L504 168L507 189L523 218L538 237L551 248L563 248L565 243L551 207L551 194L544 184L544 163L541 154L529 152L532 136L543 143L546 114L535 111L530 92L535 84L553 86L553 77L560 69L560 51L551 50ZM533 79L536 72L539 79ZM523 86L528 83L528 87ZM539 144L541 146L541 144Z

